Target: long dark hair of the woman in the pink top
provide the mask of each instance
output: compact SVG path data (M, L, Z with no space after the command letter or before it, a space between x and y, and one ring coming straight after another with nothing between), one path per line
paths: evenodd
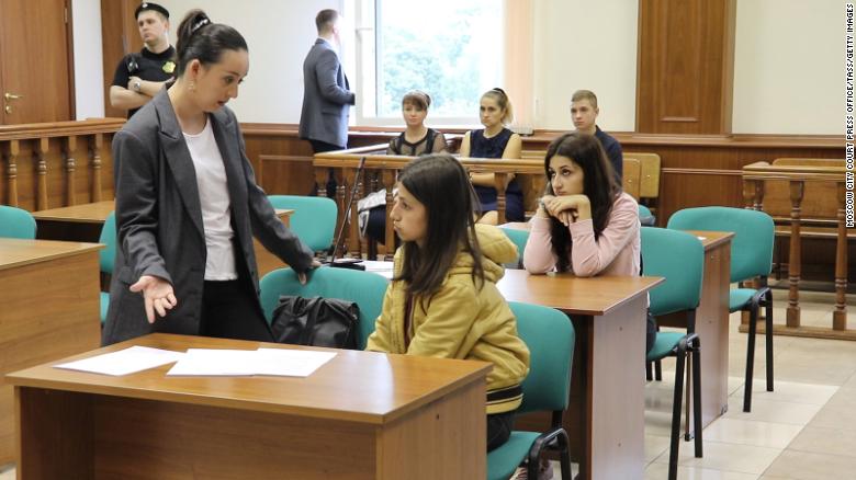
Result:
M583 169L583 194L592 203L592 221L595 228L595 239L609 224L609 214L612 212L612 203L621 193L621 187L616 183L612 165L609 163L600 140L592 135L574 132L562 135L550 144L544 156L544 173L547 174L547 194L553 192L552 176L550 175L550 160L555 156L566 157ZM571 245L571 232L561 221L550 217L553 253L559 258L556 267L560 272L567 271L570 261L567 248Z

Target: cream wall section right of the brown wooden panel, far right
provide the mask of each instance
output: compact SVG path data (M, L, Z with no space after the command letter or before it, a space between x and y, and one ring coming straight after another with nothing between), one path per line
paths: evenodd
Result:
M844 3L737 1L734 133L844 133Z

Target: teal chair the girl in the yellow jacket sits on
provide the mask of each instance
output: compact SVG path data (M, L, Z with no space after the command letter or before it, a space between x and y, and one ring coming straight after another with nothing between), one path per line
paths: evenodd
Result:
M525 459L528 478L538 478L541 453L557 449L562 479L571 480L571 454L562 412L567 408L571 363L574 358L574 327L561 311L538 305L509 301L517 317L517 332L531 354L529 375L523 380L523 402L518 413L549 410L547 432L511 432L507 443L487 454L488 480L506 480Z

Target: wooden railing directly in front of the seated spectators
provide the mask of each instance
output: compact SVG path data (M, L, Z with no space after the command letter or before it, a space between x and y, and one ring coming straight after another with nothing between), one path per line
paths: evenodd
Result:
M390 213L393 205L393 188L398 175L398 171L409 163L415 157L407 156L387 156L378 155L380 151L385 151L386 145L371 146L354 148L350 150L341 150L337 152L325 152L315 155L313 165L315 167L315 183L318 187L318 195L326 195L326 182L329 174L329 169L334 169L337 178L337 192L336 198L339 204L339 224L345 216L346 206L346 192L350 192L353 185L357 174L360 159L365 158L365 175L363 180L357 185L357 197L353 201L353 206L350 213L350 229L348 233L347 251L351 255L365 255L368 248L364 242L360 241L359 225L357 212L357 201L362 198L367 192L376 192L381 187L386 191L386 218L390 218ZM542 160L497 160L497 159L477 159L477 158L459 158L464 168L473 173L494 173L494 184L496 186L496 199L497 199L497 214L499 216L499 224L505 222L505 208L506 208L506 195L505 188L508 180L508 175L517 174L539 174L543 175L543 161ZM392 258L395 244L395 232L392 228L392 222L386 222L386 230L384 232L385 245L383 254L386 259Z

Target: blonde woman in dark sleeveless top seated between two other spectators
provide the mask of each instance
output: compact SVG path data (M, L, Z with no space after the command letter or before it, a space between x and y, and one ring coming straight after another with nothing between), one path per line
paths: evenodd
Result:
M461 141L461 157L472 158L507 158L519 159L522 142L520 136L505 126L511 122L511 102L503 89L492 89L482 95L480 102L480 118L483 129L468 132ZM514 175L508 175L506 185L505 217L508 221L522 221L523 193ZM482 224L498 222L496 214L496 188L493 173L474 173L471 175L484 216Z

